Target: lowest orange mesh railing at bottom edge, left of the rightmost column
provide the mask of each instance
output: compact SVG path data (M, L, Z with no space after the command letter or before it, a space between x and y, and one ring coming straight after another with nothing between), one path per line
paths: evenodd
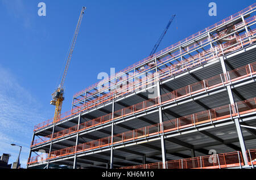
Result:
M166 169L220 169L243 165L240 151L166 161ZM163 169L163 162L128 166L119 169Z

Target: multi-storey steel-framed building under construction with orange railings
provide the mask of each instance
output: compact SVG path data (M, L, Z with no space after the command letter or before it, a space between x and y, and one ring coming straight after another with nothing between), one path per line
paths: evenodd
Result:
M255 168L255 10L76 93L35 126L27 168Z

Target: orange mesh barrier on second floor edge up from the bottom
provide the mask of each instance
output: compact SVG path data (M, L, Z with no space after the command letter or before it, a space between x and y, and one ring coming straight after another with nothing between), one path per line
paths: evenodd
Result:
M93 140L92 142L79 144L77 145L77 147L72 146L64 149L59 149L51 152L48 156L48 159L71 155L77 152L77 149L79 149L79 152L89 151L108 145L121 144L124 142L133 141L135 139L141 139L148 136L162 134L163 132L181 130L182 128L191 126L196 127L201 123L208 123L213 121L219 121L221 119L233 118L251 112L256 112L256 97L249 100L237 102L236 104L221 106L220 108L205 110L204 112L172 119L170 121L165 121L156 125L138 128L137 130L133 131L123 132L121 134L114 135L113 140L112 136L109 136L106 138ZM227 160L225 160L224 158L223 161Z

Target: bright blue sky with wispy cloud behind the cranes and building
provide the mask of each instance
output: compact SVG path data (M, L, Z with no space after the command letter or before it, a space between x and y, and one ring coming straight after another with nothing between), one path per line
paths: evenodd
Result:
M46 16L38 16L38 3ZM215 2L217 16L209 16ZM147 57L172 14L174 22L158 50L250 6L254 1L86 1L0 0L0 154L18 156L26 167L34 125L53 117L51 93L63 73L64 59L82 6L86 12L67 79L63 112L74 93Z

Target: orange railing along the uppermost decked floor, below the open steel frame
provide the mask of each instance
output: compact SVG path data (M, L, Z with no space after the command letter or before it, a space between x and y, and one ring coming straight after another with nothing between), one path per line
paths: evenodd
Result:
M255 21L255 17L256 16L252 17L252 18L254 18L253 19L254 21ZM150 77L146 76L141 81L129 83L129 85L127 85L125 90L120 88L120 89L117 89L117 91L111 92L105 96L97 98L96 100L86 102L86 104L84 104L84 105L78 106L66 113L61 114L61 118L58 121L62 121L63 119L71 117L72 115L75 115L77 113L96 108L97 106L105 104L106 102L109 102L109 101L113 100L114 98L126 95L127 93L130 93L130 92L137 91L138 89L146 87L147 85L154 84L155 80L157 78L159 78L160 80L164 80L170 76L180 74L180 73L187 71L193 67L200 66L203 63L208 62L208 61L212 60L213 58L218 57L218 55L221 55L221 54L223 55L225 53L237 50L251 42L256 41L255 39L253 39L251 41L247 41L247 37L253 36L255 32L256 32L256 29L254 29L253 31L250 31L249 35L247 35L247 33L245 33L244 35L240 36L240 42L237 42L234 45L229 44L229 46L223 46L223 47L218 46L218 48L216 46L215 50L213 50L213 49L205 50L204 52L193 55L193 57L187 58L184 61L176 62L176 63L174 63L174 65L172 65L170 67L163 68L157 74L153 74ZM214 55L214 53L216 53L216 54ZM161 62L164 63L164 62L170 60L170 58L173 58L173 57L171 57L171 55L170 55L166 58L163 58ZM39 130L40 128L49 126L52 123L53 123L53 118L47 120L46 122L40 123L39 125L36 125L34 127L34 131Z

